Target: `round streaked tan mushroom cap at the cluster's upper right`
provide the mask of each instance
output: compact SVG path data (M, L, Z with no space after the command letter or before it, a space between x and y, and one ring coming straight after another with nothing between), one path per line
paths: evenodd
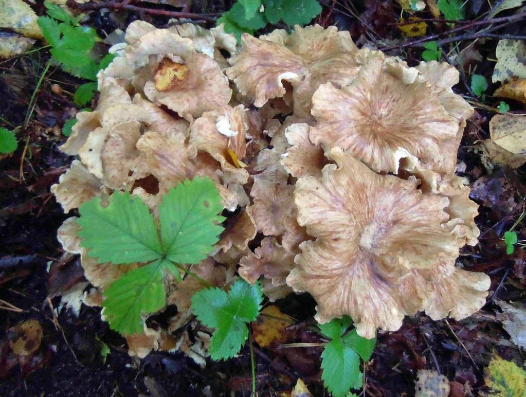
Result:
M404 68L372 57L351 84L321 85L312 97L318 124L311 128L311 142L326 151L348 150L377 172L396 174L402 158L440 161L441 145L456 137L458 123L429 83L408 84L399 77Z

